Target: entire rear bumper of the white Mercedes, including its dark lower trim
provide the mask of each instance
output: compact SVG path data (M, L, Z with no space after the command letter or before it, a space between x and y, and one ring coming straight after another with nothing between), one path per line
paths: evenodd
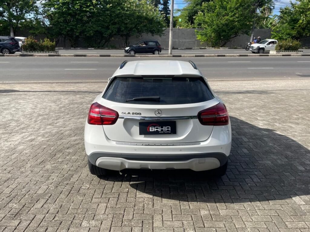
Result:
M202 142L183 144L119 144L109 140L103 128L86 122L84 133L88 160L101 168L211 170L224 165L231 149L230 123L213 128Z

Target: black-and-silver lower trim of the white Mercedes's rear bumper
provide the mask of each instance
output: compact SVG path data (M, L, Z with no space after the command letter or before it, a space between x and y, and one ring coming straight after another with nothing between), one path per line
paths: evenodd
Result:
M224 153L199 154L130 154L94 152L88 160L101 168L123 169L191 169L211 170L224 165L228 156Z

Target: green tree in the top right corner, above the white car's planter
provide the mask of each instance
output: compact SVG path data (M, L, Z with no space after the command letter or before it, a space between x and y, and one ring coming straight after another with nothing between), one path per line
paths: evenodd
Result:
M300 39L310 35L310 0L291 2L280 10L278 23L273 28L272 38L277 40Z

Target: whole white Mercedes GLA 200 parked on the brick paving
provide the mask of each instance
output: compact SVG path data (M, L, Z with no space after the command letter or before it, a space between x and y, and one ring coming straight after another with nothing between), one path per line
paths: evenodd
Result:
M91 104L85 124L91 174L191 169L224 175L228 112L189 61L124 61Z

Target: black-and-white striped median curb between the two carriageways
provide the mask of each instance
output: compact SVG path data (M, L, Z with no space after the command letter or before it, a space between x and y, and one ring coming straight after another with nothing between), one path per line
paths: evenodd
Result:
M185 54L185 55L118 55L118 54L0 54L0 57L279 57L310 56L310 54Z

